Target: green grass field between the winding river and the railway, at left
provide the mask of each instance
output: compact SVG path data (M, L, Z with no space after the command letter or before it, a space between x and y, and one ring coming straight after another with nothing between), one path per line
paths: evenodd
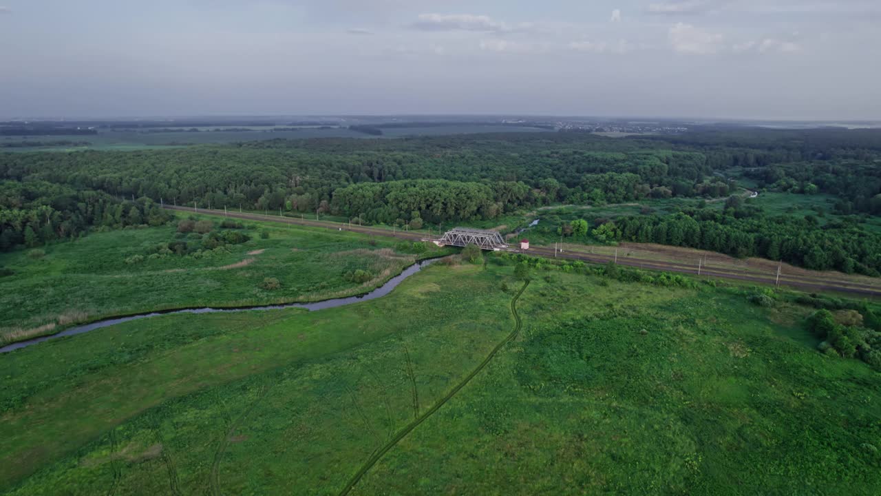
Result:
M220 230L221 218L198 218L213 219ZM350 232L272 223L239 230L251 240L227 244L226 250L200 259L149 258L159 243L192 240L193 235L181 236L174 226L93 233L50 245L38 259L29 252L0 254L0 266L15 273L0 278L0 340L136 312L352 296L381 285L416 259L394 252L394 241ZM145 259L126 262L136 255ZM344 280L344 273L358 269L369 271L371 279ZM281 287L263 289L265 278L278 279Z

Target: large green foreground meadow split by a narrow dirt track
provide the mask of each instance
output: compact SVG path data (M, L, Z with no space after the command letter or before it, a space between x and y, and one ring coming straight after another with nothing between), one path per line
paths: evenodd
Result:
M15 351L0 492L337 494L512 332L511 274ZM556 271L516 305L515 341L352 494L881 492L881 374L818 353L812 309Z

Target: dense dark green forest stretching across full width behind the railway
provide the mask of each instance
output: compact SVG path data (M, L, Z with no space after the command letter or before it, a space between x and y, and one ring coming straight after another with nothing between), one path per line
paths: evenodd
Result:
M722 212L695 207L618 218L603 234L609 241L758 255L814 269L881 270L881 235L855 217L881 214L877 130L273 139L131 152L8 153L0 154L0 179L6 181L0 190L3 250L76 236L90 226L159 222L159 201L419 225L488 220L556 204L731 196ZM819 225L811 216L744 207L744 184L834 195L840 219ZM38 213L47 207L56 213L48 222ZM133 208L137 215L130 214Z

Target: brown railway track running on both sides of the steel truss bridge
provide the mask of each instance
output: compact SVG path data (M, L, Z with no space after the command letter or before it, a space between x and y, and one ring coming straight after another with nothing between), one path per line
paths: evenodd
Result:
M278 215L249 214L240 212L224 212L222 210L194 209L191 207L171 207L165 206L169 210L181 212L196 212L212 215L225 215L233 219L241 219L248 221L260 222L279 222L292 225L308 226L329 230L346 230L367 234L371 236L394 237L397 239L410 241L435 241L435 238L426 238L425 235L419 233L411 233L407 231L389 231L388 229L374 228L368 226L355 226L339 222L313 221L309 219L297 219L294 217L284 217ZM509 252L524 253L529 255L540 256L544 258L558 259L574 259L584 262L605 264L615 261L611 255L599 255L595 253L584 252L554 252L552 248L532 247L528 251L520 250L511 245ZM652 259L636 259L633 257L618 257L618 265L625 267L643 268L648 270L658 270L663 272L673 272L678 274L698 275L698 267L678 262L663 262ZM759 284L771 284L776 282L775 274L755 274L738 269L720 268L720 267L701 267L701 276L718 277L722 279L730 279L744 282L757 282ZM860 282L840 282L829 281L820 277L808 277L795 274L781 274L780 284L796 289L804 289L809 291L836 291L848 293L852 295L860 295L866 297L881 297L881 285L871 286Z

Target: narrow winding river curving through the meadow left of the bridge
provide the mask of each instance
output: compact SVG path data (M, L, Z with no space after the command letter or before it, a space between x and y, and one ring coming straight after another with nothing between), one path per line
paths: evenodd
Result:
M404 279L410 277L412 274L416 274L422 267L426 267L433 262L437 261L437 259L427 259L421 260L410 267L403 269L401 274L397 274L395 277L389 279L388 282L381 285L379 288L376 288L369 293L359 295L356 297L344 297L344 298L334 298L329 300L318 301L315 303L291 303L291 304L267 304L263 306L242 306L242 307L233 307L233 308L214 308L210 306L201 307L201 308L181 308L178 310L164 310L161 312L148 312L148 313L137 313L135 315L128 315L125 317L117 317L114 319L103 319L92 322L91 324L85 324L77 327L70 327L69 329L65 329L58 334L52 334L48 336L41 336L33 339L29 339L27 341L21 342L13 342L12 344L8 344L2 348L0 348L0 353L7 353L9 351L13 351L15 349L26 348L28 346L33 346L39 342L48 341L50 339L57 339L64 336L72 336L76 334L83 334L89 331L93 331L95 329L100 329L101 327L110 327L115 326L116 324L121 324L122 322L128 322L130 320L137 319L150 319L152 317L159 317L161 315L170 315L173 313L214 313L214 312L253 312L255 310L284 310L285 308L305 308L310 312L314 312L316 310L324 310L326 308L335 308L337 306L344 306L346 304L359 303L363 301L372 300L378 297L384 297L388 295L392 289L395 289L398 284L403 282Z

